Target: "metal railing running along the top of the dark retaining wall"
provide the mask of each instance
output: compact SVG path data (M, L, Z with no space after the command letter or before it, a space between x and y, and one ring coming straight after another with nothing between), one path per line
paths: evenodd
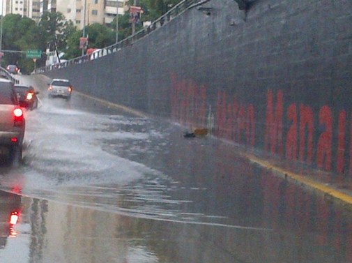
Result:
M199 6L208 1L210 0L203 0L203 1L183 0L180 3L178 3L176 6L174 6L174 8L171 8L167 13L162 15L162 17L159 17L158 20L155 20L153 23L151 23L148 27L144 27L144 29L141 29L134 35L129 36L128 38L125 38L119 41L118 43L115 43L114 45L109 45L108 47L102 48L98 52L95 52L93 57L91 54L89 54L89 55L77 57L75 59L70 59L62 63L57 63L55 65L36 68L36 70L34 70L34 73L45 73L49 70L54 70L56 68L66 68L67 66L70 66L72 64L85 63L93 59L98 59L99 57L104 57L107 54L115 53L118 50L121 50L121 48L131 45L132 43L135 43L137 40L143 38L144 36L155 31L156 29L159 29L160 27L164 26L164 24L167 24L168 22L173 20L176 16L181 15L181 13L183 13L185 10L194 8L195 6Z

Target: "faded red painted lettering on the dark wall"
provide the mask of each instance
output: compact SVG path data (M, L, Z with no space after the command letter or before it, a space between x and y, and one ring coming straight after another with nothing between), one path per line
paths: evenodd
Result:
M265 99L252 103L225 90L209 96L204 85L176 75L171 86L171 118L178 123L211 127L217 137L322 170L352 171L352 113L346 110L285 102L284 90L268 89Z

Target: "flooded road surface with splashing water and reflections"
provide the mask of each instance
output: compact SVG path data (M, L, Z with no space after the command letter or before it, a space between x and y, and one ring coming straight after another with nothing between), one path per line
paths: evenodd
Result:
M349 211L236 147L21 80L41 103L0 167L0 262L352 262Z

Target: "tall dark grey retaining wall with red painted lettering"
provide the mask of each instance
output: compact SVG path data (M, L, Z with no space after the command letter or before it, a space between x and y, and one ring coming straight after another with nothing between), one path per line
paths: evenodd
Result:
M211 0L114 54L45 75L350 176L351 10L346 0L258 0L249 10Z

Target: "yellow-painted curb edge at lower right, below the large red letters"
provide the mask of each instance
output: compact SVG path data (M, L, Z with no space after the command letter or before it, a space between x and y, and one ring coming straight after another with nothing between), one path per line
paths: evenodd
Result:
M323 183L309 179L303 175L296 174L294 172L289 172L287 170L282 169L281 167L277 167L277 166L271 164L270 162L268 162L266 160L261 160L257 157L250 155L250 154L245 154L245 156L252 163L257 163L258 165L266 167L267 169L272 169L275 172L279 172L280 174L287 176L290 179L298 181L299 183L303 183L303 184L305 184L305 186L308 186L310 188L318 190L319 192L321 192L323 194L330 195L330 197L334 197L337 200L345 202L346 204L352 204L352 197L350 195L347 195L346 193L342 193L341 191L336 190L335 188L331 188L329 186L326 186Z

